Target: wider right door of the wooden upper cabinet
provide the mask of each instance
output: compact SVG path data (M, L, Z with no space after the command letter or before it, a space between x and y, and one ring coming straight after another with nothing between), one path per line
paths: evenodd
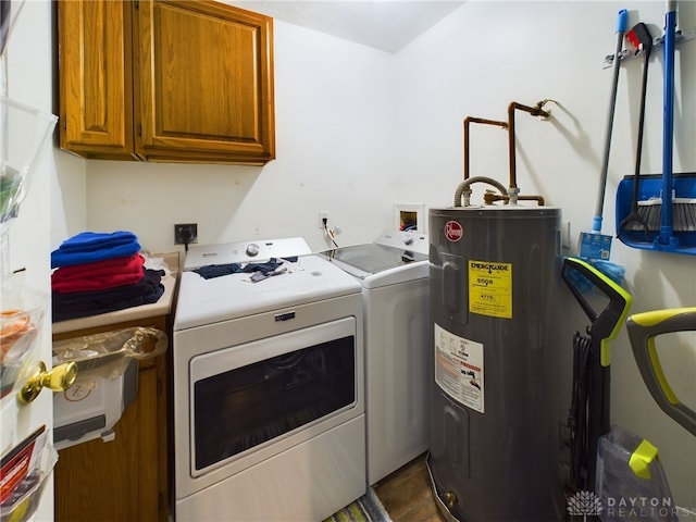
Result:
M140 1L136 138L150 161L275 157L273 20L210 1Z

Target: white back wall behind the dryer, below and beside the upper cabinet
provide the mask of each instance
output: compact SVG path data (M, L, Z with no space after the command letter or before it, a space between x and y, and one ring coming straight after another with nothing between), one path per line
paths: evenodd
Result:
M277 159L264 167L84 162L83 226L130 229L151 251L181 248L175 223L198 223L201 244L302 236L320 250L327 210L339 244L372 239L393 226L393 67L388 53L276 21Z

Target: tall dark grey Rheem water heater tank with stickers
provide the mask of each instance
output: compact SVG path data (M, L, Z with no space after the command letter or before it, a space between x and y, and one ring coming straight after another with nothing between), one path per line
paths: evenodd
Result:
M559 209L430 210L435 372L427 467L465 522L562 520Z

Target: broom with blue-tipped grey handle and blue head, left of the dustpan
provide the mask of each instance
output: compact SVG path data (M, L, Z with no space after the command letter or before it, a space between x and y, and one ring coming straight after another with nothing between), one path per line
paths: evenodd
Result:
M609 151L611 148L611 130L613 127L613 111L617 104L617 87L619 85L619 71L621 69L621 50L623 49L623 35L626 30L629 12L625 9L619 11L617 21L617 48L613 54L613 80L611 84L611 101L609 103L609 117L607 119L607 132L605 138L605 153L601 165L601 181L599 184L599 196L595 219L593 220L592 232L583 232L580 235L580 257L588 264L600 271L617 284L623 283L625 269L609 261L611 252L612 236L601 234L601 222L605 206L605 190L607 186L607 173L609 171ZM593 285L589 281L586 284L576 282L576 286L585 293L592 291Z

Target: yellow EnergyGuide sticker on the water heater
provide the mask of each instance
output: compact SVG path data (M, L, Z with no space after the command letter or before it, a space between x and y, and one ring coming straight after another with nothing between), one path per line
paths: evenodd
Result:
M469 261L469 311L512 319L512 263Z

